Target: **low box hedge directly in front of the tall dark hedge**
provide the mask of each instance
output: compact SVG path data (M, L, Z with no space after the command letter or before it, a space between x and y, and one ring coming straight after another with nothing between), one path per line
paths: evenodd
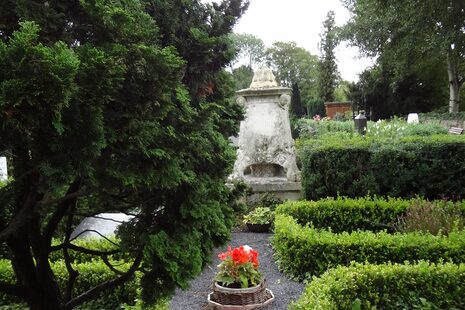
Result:
M422 210L433 212L428 216L428 214L421 214ZM446 234L451 231L455 221L458 221L457 228L463 227L465 201L454 203L420 198L405 200L338 196L317 201L287 201L278 206L276 214L290 215L301 225L310 224L317 229L330 228L335 233L387 229L388 231L423 230L437 234L437 231L442 228L442 233ZM436 229L427 230L423 227L436 227Z

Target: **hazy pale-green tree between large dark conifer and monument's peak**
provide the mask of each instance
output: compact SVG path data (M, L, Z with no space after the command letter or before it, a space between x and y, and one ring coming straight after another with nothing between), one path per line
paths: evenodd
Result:
M249 33L232 33L233 46L238 51L235 62L245 60L245 66L253 68L259 65L265 56L263 40Z

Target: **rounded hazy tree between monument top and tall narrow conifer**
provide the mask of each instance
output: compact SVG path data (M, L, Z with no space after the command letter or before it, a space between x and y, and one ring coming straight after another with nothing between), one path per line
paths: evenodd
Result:
M303 102L316 97L317 56L294 42L275 42L266 49L266 62L280 85L299 85Z

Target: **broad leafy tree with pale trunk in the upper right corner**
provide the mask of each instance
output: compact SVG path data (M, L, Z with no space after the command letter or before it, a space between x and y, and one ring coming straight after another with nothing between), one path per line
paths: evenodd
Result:
M464 1L342 2L352 14L346 37L366 54L395 64L396 74L408 75L425 60L442 62L448 74L449 112L458 112L465 81Z

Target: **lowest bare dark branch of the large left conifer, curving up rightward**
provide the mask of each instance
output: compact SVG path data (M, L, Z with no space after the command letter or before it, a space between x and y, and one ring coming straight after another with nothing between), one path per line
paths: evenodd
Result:
M71 299L69 302L66 303L65 308L66 309L73 309L77 305L82 304L83 302L86 302L88 300L91 300L98 296L100 293L102 293L105 290L115 288L118 285L123 284L124 282L128 281L136 272L137 268L139 268L140 263L142 262L142 250L139 250L139 253L134 260L134 263L132 264L131 268L121 276L108 280L106 282L103 282L94 288L88 290L85 293L82 293L81 295L77 296L76 298Z

